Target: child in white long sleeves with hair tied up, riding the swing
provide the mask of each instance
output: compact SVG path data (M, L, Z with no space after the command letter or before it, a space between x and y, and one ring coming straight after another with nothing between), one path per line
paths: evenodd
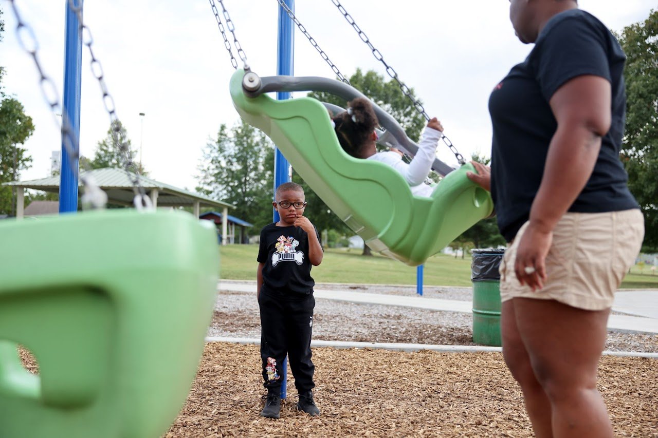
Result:
M443 137L443 126L436 117L427 123L420 135L418 152L409 164L402 160L402 153L395 148L377 152L374 128L379 122L368 99L353 99L347 103L347 110L334 116L332 121L338 141L349 155L388 164L409 183L411 193L424 197L432 195L436 186L432 187L425 180L436 158L438 142Z

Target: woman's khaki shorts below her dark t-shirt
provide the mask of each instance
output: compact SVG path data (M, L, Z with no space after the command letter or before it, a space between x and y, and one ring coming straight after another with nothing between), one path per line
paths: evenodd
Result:
M533 292L520 285L514 272L517 247L527 227L528 222L500 264L502 301L523 297L555 300L584 310L612 307L614 293L634 264L644 239L644 217L639 209L567 213L553 230L544 288Z

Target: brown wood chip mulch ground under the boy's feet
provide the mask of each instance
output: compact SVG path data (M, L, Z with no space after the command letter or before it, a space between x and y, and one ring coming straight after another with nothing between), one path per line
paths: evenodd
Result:
M499 353L313 349L311 418L295 410L289 373L281 418L261 418L256 345L207 343L174 437L532 437ZM658 437L658 360L604 356L599 391L615 436Z

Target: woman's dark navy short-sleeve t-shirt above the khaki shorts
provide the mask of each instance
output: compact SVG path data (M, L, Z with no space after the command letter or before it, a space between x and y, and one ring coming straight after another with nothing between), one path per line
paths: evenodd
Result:
M570 212L607 212L638 208L619 160L626 94L626 57L611 32L588 12L572 9L547 22L524 62L493 89L492 197L498 227L511 241L528 220L544 174L557 122L549 100L576 76L595 75L612 85L612 123L603 137L594 171Z

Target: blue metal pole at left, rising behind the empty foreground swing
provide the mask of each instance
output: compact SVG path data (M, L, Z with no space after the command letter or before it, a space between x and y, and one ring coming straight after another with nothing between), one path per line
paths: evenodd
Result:
M82 7L83 0L74 0L76 7ZM82 32L76 12L66 3L66 37L64 48L64 117L68 119L70 130L80 138L80 90L82 89ZM76 145L72 145L76 147ZM78 150L74 151L77 155ZM73 160L73 166L70 161ZM62 138L62 160L59 173L59 212L78 210L78 158L70 157Z

